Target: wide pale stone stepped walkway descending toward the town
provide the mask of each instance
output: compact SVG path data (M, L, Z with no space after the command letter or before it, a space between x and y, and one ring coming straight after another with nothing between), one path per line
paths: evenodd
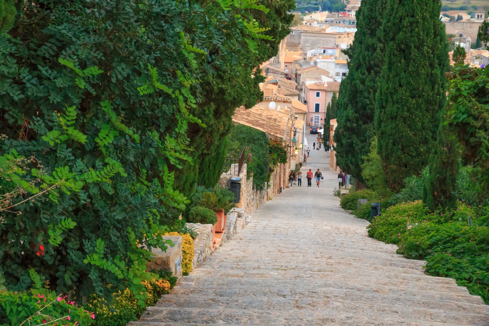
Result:
M319 188L304 179L251 213L241 233L130 325L489 325L480 297L367 237L368 222L333 196L328 159L311 149L302 172L319 167Z

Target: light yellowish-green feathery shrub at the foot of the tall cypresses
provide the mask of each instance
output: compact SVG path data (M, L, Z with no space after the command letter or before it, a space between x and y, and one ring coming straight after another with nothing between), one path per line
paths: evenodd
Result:
M364 163L360 166L362 169L361 173L365 184L370 189L374 189L381 196L385 196L388 195L390 191L385 184L385 175L382 170L382 163L377 149L378 141L377 137L374 136L372 144L370 145L370 152L362 158Z

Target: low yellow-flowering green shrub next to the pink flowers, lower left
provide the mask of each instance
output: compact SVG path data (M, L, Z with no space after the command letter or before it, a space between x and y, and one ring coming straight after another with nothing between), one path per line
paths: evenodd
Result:
M144 291L148 295L142 306L138 305L137 299L129 289L117 290L113 293L114 300L111 303L104 298L90 296L86 306L95 311L95 324L92 325L121 326L137 320L147 306L155 305L158 299L163 294L168 294L178 281L171 272L152 271L152 275L152 279L142 281Z

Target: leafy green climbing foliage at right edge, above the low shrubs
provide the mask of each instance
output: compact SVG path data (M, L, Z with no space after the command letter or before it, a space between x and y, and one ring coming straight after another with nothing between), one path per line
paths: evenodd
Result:
M461 145L466 164L480 171L472 186L483 204L489 189L489 67L457 66L450 83L445 124Z

